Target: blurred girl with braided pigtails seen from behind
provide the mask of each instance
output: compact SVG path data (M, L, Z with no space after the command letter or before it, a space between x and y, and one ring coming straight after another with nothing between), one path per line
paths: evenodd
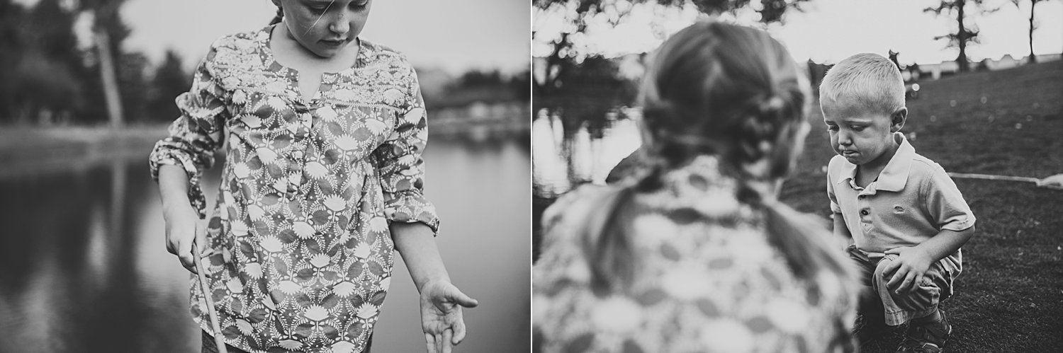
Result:
M851 350L853 271L825 225L776 199L808 131L808 83L787 50L759 30L693 24L656 53L641 101L648 166L543 216L536 348Z

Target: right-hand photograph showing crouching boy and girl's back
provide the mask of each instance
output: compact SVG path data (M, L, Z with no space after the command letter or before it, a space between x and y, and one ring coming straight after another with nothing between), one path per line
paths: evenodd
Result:
M1063 350L1063 3L533 1L536 352Z

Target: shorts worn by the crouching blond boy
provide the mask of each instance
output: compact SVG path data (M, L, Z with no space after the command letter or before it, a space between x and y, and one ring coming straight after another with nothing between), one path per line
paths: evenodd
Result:
M960 264L951 257L934 262L923 275L923 283L907 294L896 294L887 287L885 265L897 259L894 253L867 252L849 245L849 259L860 267L864 285L860 296L860 312L873 313L881 307L885 324L898 325L913 318L933 314L938 303L952 296L952 280L960 276Z

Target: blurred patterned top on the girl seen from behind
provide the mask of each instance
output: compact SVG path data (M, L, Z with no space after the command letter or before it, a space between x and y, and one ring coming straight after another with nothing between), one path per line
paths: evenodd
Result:
M583 187L543 215L534 269L533 322L543 352L830 352L856 317L838 278L798 280L736 199L738 181L701 156L636 194L635 278L595 295L580 234L614 187ZM819 289L813 289L817 287Z

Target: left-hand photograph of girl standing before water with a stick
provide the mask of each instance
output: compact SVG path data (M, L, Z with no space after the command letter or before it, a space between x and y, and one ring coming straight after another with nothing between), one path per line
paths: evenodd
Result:
M519 352L528 7L0 1L0 352Z

